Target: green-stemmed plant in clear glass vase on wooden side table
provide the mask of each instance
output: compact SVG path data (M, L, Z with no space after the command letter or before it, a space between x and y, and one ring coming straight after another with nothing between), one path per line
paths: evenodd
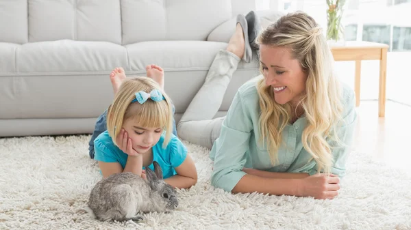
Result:
M344 35L341 25L345 0L327 0L327 40L338 41Z

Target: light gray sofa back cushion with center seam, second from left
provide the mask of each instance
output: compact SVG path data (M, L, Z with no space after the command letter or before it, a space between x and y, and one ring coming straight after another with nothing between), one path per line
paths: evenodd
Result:
M119 0L28 2L29 42L70 39L121 44Z

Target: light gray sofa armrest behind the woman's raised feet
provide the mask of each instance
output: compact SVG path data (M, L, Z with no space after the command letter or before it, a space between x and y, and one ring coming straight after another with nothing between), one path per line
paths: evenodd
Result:
M256 14L260 18L261 26L263 29L275 23L281 16L284 15L283 12L274 10L259 10ZM236 31L236 20L237 16L226 20L216 27L207 37L208 42L225 42L228 43L229 39L232 37L233 33Z

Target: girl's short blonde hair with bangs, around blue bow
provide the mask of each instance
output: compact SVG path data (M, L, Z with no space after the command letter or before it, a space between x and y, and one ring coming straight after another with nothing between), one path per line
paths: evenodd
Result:
M138 91L150 93L151 90L158 89L165 100L155 102L150 98L146 102L132 102L136 99ZM114 96L114 100L107 113L107 130L115 145L116 138L121 127L128 119L134 119L136 124L144 128L163 128L166 132L163 147L170 141L173 126L173 108L171 99L160 88L153 79L140 76L123 81L119 91Z

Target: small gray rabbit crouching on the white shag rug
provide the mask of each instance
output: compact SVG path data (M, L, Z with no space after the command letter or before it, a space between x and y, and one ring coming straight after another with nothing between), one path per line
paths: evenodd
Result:
M164 182L162 169L146 167L147 181L134 173L116 173L97 182L90 193L90 214L98 220L143 220L139 213L169 212L178 206L175 188Z

